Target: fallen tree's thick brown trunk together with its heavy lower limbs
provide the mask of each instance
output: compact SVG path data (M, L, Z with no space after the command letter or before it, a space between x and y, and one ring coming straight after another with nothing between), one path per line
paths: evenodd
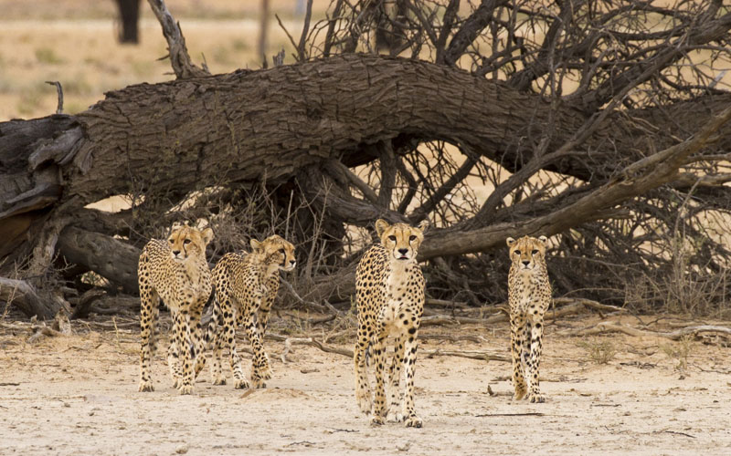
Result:
M549 169L592 185L624 185L611 181L622 167L651 150L673 147L729 102L726 94L611 114L580 150ZM409 141L445 140L517 171L538 150L546 126L554 133L546 147L550 153L587 120L571 107L549 108L538 95L459 69L362 55L124 88L78 116L0 123L0 253L10 260L5 265L12 264L24 251L29 230L58 216L61 207L75 211L112 194L150 189L182 197L219 181L265 178L276 184L303 178L305 171L327 174L334 160L346 166L377 160L378 143L397 150ZM719 137L714 150L727 150L731 128L721 127ZM662 181L673 178L670 173ZM421 257L481 251L502 242L508 231L557 233L646 188L625 190L630 192L607 188L604 200L568 206L585 209L570 212L573 218L560 212L469 231L434 230ZM587 195L602 194L578 192L576 204L586 203L579 199ZM376 216L406 220L370 196L376 201L334 194L340 198L334 200L339 202L334 217L362 225ZM122 248L121 241L100 239L69 228L58 243L73 263L136 292L136 252ZM110 254L124 259L110 262Z

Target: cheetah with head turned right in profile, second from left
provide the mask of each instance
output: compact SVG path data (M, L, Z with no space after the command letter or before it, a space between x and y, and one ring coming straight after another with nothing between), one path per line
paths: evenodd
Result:
M206 336L207 342L213 342L213 384L226 384L226 377L221 371L226 339L236 389L249 388L236 351L236 326L243 324L246 327L254 352L251 382L254 388L265 388L264 380L271 378L271 368L264 352L263 340L271 304L280 287L278 270L291 271L297 263L294 246L278 235L262 242L252 239L250 244L250 254L225 254L213 268L216 298Z

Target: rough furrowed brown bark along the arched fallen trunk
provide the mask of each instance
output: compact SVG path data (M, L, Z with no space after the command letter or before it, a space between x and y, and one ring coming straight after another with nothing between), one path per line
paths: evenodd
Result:
M625 150L629 163L643 152L638 136L655 141L657 149L667 147L674 140L663 133L698 130L707 113L720 111L729 99L678 103L668 110L671 117L681 111L683 116L673 119L667 118L667 110L652 109L609 116L587 141L586 149L595 150L588 161L567 159L555 169L587 181L606 179L618 163L602 163L602 143ZM43 165L65 165L62 173L68 183L62 200L78 196L79 202L129 192L139 182L187 191L196 181L216 181L222 174L232 181L255 180L264 173L270 181L286 181L303 167L339 155L347 165L372 161L363 145L407 137L464 143L514 170L532 156L535 144L529 139L538 138L532 133L548 123L548 110L537 96L457 69L373 56L132 86L109 93L75 118L32 121L57 135L52 146L58 150L47 152L47 161L28 157L30 151L38 153L37 144L16 140L5 130L33 131L34 126L0 124L0 157L12 154L11 165L22 168L25 161L36 167L31 175L21 172L16 188L5 192L0 217L17 202L27 202L17 197L34 189ZM555 147L586 120L571 108L559 109L555 118ZM84 138L66 147L61 142L76 138L76 122ZM657 132L648 135L645 122ZM731 142L731 135L724 137L721 147ZM17 145L21 149L14 154Z

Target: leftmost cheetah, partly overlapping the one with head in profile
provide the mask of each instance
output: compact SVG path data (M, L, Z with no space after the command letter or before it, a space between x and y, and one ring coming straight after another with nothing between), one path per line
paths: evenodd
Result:
M140 329L140 391L153 391L151 358L155 348L158 302L162 298L173 316L175 333L168 349L168 366L174 388L180 394L193 392L196 355L203 349L200 316L211 294L211 275L206 245L213 230L184 225L170 233L167 241L153 239L144 246L137 268L142 315ZM182 368L179 358L182 357ZM202 358L202 357L201 357Z

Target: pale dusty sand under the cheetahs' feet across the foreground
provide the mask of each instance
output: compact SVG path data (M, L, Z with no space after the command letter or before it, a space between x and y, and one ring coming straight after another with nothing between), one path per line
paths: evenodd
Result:
M506 363L420 358L416 399L424 427L418 430L371 427L355 407L351 360L312 347L296 347L285 365L283 345L267 341L274 369L268 389L244 396L230 385L213 387L205 372L194 395L179 396L161 356L154 362L156 390L137 392L133 326L115 334L75 323L76 335L36 345L26 344L26 333L2 329L0 453L451 455L539 447L539 454L729 454L731 349L722 340L694 341L681 372L666 354L677 343L599 337L590 342L609 341L618 354L609 365L597 365L577 347L579 339L556 334L592 322L596 318L584 317L547 326L544 404L506 396ZM425 327L423 335L469 334L486 342L424 339L420 347L507 354L506 329ZM487 394L488 386L496 396ZM543 415L520 415L531 412Z

